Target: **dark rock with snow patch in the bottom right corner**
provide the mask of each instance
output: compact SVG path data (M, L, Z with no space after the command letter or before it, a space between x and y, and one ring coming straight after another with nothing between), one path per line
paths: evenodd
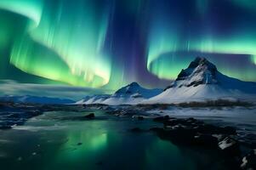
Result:
M242 158L242 169L256 169L256 150L251 150Z

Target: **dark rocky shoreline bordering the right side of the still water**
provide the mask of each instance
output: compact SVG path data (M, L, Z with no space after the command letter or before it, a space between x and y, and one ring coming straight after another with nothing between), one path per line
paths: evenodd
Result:
M140 121L144 116L134 116ZM162 127L130 129L134 133L153 132L173 144L200 149L215 150L223 157L230 169L256 169L256 143L241 142L235 127L218 127L193 117L180 119L169 116L157 116L154 122L162 123Z

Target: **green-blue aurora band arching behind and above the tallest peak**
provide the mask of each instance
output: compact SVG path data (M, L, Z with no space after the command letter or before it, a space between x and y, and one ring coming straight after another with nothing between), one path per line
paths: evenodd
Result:
M218 33L214 33L212 28L214 25L207 18L209 2L211 1L196 1L196 12L202 17L199 21L187 15L183 16L185 18L177 19L175 15L168 14L169 8L164 11L165 7L162 5L154 6L156 11L151 17L148 41L148 71L163 79L175 79L179 71L189 65L195 56L199 55L213 61L217 64L219 71L230 77L237 77L244 81L256 81L255 23L246 22L247 15L242 16L245 22L232 20L236 29L230 30L225 36L219 36ZM256 3L254 1L237 0L233 3L249 10L249 16L253 16L256 21L256 8L248 8L250 4L255 7ZM168 17L162 17L166 15ZM191 26L192 22L195 22L196 26L204 26L203 29L197 28L196 34L193 34L195 28ZM243 71L238 71L237 67L232 67L232 65L227 67L229 63L225 60L225 55L233 55L238 58L245 57L253 65L244 65L242 66Z

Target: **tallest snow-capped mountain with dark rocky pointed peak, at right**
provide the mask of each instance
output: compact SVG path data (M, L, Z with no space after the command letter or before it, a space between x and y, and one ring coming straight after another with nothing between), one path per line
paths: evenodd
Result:
M223 75L208 59L197 57L177 79L145 104L182 103L216 99L256 99L256 83Z

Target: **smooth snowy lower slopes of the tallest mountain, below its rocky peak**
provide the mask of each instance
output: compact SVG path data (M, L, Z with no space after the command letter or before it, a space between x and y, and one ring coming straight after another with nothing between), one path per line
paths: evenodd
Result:
M255 94L245 94L234 89L221 88L219 85L202 84L196 87L169 88L162 94L144 100L143 104L179 104L224 99L229 101L256 101Z

